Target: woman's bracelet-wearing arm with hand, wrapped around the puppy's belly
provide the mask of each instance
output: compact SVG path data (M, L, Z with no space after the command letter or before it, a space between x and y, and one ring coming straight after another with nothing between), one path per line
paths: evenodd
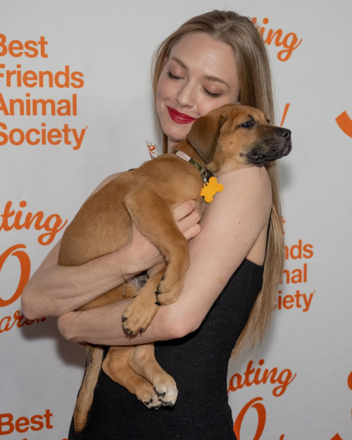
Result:
M107 177L92 194L115 176ZM199 213L194 208L195 202L188 201L174 210L177 225L187 239L194 237L200 230L197 224ZM59 249L60 241L51 249L23 290L23 313L30 320L76 310L122 284L116 252L95 258L84 265L67 267L58 265ZM164 258L153 244L132 228L130 243L120 249L120 260L124 275L129 278L162 263Z

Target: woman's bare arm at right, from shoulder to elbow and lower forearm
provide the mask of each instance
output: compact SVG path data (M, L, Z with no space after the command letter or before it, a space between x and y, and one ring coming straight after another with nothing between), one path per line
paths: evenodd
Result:
M272 192L265 168L246 168L219 178L224 191L206 206L201 232L189 245L191 265L175 303L162 306L137 336L122 328L122 311L132 299L58 318L66 339L105 345L145 344L174 339L201 325L232 273L268 227ZM264 246L263 246L264 251Z

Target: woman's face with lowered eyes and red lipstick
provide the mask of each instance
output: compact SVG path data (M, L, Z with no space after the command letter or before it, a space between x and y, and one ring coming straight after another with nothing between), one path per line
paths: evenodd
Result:
M202 32L185 34L170 51L156 90L156 111L168 151L186 139L192 122L239 95L232 48Z

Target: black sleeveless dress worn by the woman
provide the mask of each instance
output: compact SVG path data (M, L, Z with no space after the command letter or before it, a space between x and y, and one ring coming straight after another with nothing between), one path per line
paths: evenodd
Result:
M149 409L101 371L87 426L69 440L236 440L227 396L227 367L263 284L263 266L244 260L201 326L156 342L158 363L177 384L173 408Z

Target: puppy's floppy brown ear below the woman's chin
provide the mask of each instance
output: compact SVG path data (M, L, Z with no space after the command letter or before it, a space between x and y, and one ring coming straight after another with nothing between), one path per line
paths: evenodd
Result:
M213 160L216 143L222 124L227 120L227 114L205 115L193 122L187 141L199 153L205 163Z

